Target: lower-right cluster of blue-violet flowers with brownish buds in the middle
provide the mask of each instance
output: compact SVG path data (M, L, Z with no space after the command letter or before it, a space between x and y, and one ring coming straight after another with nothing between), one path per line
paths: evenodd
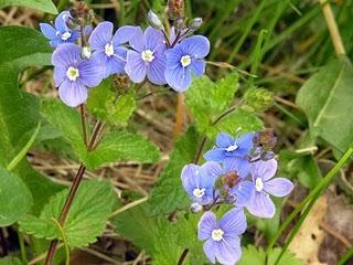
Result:
M186 165L182 184L193 200L192 210L206 210L199 222L199 239L212 263L236 264L242 256L240 237L246 230L246 209L250 214L271 219L276 208L270 199L288 195L293 184L274 178L277 160L271 151L276 138L271 130L233 137L218 134L216 146L204 153L202 166ZM218 222L211 211L222 203L234 205Z

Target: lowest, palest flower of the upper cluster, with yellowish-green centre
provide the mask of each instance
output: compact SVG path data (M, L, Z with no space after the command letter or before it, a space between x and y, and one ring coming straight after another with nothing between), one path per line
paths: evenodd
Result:
M60 45L53 53L54 83L60 98L71 107L87 99L87 88L99 85L100 68L92 60L81 57L79 46L73 43Z

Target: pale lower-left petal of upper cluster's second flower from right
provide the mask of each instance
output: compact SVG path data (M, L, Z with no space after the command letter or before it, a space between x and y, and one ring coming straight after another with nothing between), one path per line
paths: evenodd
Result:
M147 74L147 66L141 54L135 51L128 51L127 63L125 66L126 73L133 83L141 83Z

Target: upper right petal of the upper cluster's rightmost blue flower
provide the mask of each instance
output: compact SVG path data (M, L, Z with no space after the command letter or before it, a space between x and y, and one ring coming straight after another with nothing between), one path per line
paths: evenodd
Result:
M203 59L210 53L210 41L202 35L186 38L179 45L192 57Z

